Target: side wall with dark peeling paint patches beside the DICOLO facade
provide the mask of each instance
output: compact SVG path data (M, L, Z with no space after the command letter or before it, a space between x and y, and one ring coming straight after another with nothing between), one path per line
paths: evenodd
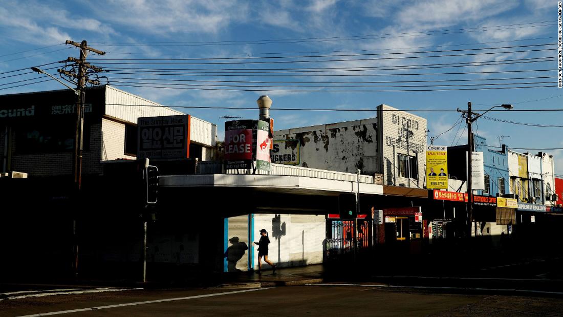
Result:
M381 173L375 118L275 131L274 139L298 140L302 167Z

